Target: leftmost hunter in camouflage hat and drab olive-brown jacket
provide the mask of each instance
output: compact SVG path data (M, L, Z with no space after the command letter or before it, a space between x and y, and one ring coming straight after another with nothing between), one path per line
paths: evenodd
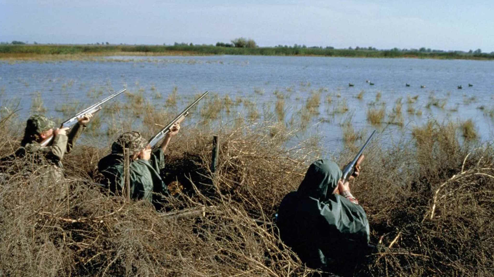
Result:
M26 122L24 138L21 147L15 151L18 158L32 158L30 161L38 165L44 165L39 172L44 185L55 186L55 197L63 199L67 196L67 189L57 183L64 179L62 159L64 154L70 153L81 136L82 131L89 123L92 114L85 114L78 118L76 124L69 134L69 128L54 128L55 122L43 115L33 115ZM41 146L41 141L53 136L47 146Z

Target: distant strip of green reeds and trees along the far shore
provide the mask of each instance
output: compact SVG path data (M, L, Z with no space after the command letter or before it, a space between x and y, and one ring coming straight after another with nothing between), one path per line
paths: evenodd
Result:
M225 46L223 46L225 45ZM482 53L475 51L442 51L420 49L378 50L373 47L352 49L334 49L333 47L306 47L305 45L276 47L235 47L217 43L215 45L193 45L192 43L175 43L174 45L70 45L70 44L1 44L0 57L18 55L46 54L105 54L118 55L124 52L166 53L183 55L267 55L267 56L327 56L327 57L365 57L365 58L423 58L423 59L494 59L494 52Z

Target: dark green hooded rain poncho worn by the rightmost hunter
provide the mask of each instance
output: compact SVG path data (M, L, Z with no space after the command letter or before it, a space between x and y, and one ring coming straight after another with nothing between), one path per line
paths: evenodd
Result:
M278 210L280 237L311 268L325 269L329 259L366 254L369 223L364 209L332 194L341 171L334 162L314 162Z

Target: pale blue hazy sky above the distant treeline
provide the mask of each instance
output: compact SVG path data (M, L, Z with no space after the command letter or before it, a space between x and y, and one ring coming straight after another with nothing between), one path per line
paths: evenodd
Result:
M0 0L0 41L494 51L492 0Z

